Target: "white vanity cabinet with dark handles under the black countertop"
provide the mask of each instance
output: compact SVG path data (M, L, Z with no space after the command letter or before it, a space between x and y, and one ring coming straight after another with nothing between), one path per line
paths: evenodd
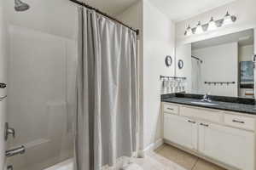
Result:
M177 144L230 170L256 169L255 117L187 105L164 105L178 107L175 114L163 110L164 139L169 144Z

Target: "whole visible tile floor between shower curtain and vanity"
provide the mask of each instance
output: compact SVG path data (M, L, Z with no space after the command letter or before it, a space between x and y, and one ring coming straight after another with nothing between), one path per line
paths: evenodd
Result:
M142 168L132 170L225 170L168 144L149 151L145 158L136 159L133 162Z

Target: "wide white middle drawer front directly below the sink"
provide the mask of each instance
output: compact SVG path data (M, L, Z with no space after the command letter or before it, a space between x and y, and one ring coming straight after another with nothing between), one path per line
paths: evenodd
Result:
M204 108L180 107L180 115L199 118L208 122L222 122L223 114L218 110Z

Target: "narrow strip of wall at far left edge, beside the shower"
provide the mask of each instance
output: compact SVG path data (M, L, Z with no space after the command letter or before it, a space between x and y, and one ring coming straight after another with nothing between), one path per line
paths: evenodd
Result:
M0 82L7 82L6 60L7 60L7 33L3 0L0 1ZM6 90L0 89L0 97L6 94ZM6 99L0 101L0 169L5 169L5 141L3 139L4 123L6 122Z

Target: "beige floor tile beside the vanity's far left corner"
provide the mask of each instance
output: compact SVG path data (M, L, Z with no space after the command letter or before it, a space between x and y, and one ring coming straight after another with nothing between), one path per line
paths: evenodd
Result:
M198 160L198 157L192 156L189 153L186 153L183 150L178 150L170 145L165 145L160 150L157 150L156 153L188 170L191 170Z

